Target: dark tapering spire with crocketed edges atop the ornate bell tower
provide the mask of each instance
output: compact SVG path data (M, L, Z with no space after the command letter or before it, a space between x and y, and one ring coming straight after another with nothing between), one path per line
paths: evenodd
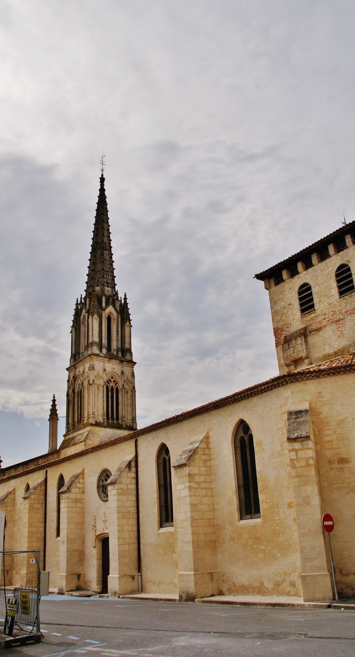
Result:
M93 243L87 273L87 286L85 296L105 294L111 296L116 291L114 260L112 258L110 224L108 223L108 208L105 179L103 172L100 176L100 191L98 193L96 217L93 231Z

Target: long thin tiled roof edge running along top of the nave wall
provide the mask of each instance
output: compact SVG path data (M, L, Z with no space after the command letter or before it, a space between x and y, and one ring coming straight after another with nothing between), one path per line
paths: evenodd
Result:
M85 449L81 449L80 451L69 454L68 456L52 459L52 461L47 461L47 463L40 463L31 466L30 468L24 468L24 470L21 472L7 474L7 472L10 472L14 466L3 468L3 470L1 470L1 474L4 474L0 477L0 484L1 482L21 477L24 474L27 475L31 472L36 472L37 470L45 470L46 468L51 468L54 465L66 463L66 461L79 459L80 457L99 451L100 449L106 449L106 447L112 447L112 445L118 445L119 443L127 442L127 440L135 440L135 438L138 438L139 436L151 434L154 431L159 431L160 429L163 429L167 426L178 424L179 422L184 422L185 420L189 420L192 417L204 415L205 413L210 413L211 411L230 406L232 404L238 403L238 401L241 401L242 399L248 399L248 397L261 395L262 393L268 392L269 390L274 390L274 388L281 388L282 386L286 386L290 383L296 383L297 381L305 381L312 378L320 378L322 376L334 376L336 374L347 374L350 372L355 372L355 353L338 356L337 358L332 358L331 360L325 361L324 363L319 363L319 365L310 365L310 367L306 367L303 370L299 370L297 372L287 372L286 374L274 376L274 378L269 378L268 380L263 381L262 383L258 383L255 386L244 388L244 390L240 390L239 392L234 392L232 395L228 395L227 397L221 397L221 399L209 401L209 403L198 406L197 408L191 409L190 411L184 411L178 415L173 415L173 417L168 417L167 419L161 420L160 422L155 422L154 424L150 424L149 426L146 426L142 429L132 431L131 433L125 434L124 436L117 436L117 438L111 438L110 440L106 440L105 442L99 443L98 445L86 447ZM24 464L25 463L26 461ZM20 463L16 463L16 467L19 465Z

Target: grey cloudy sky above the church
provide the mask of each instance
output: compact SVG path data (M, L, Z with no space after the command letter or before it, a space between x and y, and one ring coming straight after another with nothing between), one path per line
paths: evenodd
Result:
M102 150L138 426L276 375L253 275L355 219L355 5L0 0L0 30L4 465L65 413Z

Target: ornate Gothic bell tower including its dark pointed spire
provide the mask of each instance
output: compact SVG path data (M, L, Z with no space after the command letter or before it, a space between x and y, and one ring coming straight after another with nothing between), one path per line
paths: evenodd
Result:
M119 297L104 187L96 207L85 296L76 301L61 447L103 442L136 429L135 373L127 296Z

